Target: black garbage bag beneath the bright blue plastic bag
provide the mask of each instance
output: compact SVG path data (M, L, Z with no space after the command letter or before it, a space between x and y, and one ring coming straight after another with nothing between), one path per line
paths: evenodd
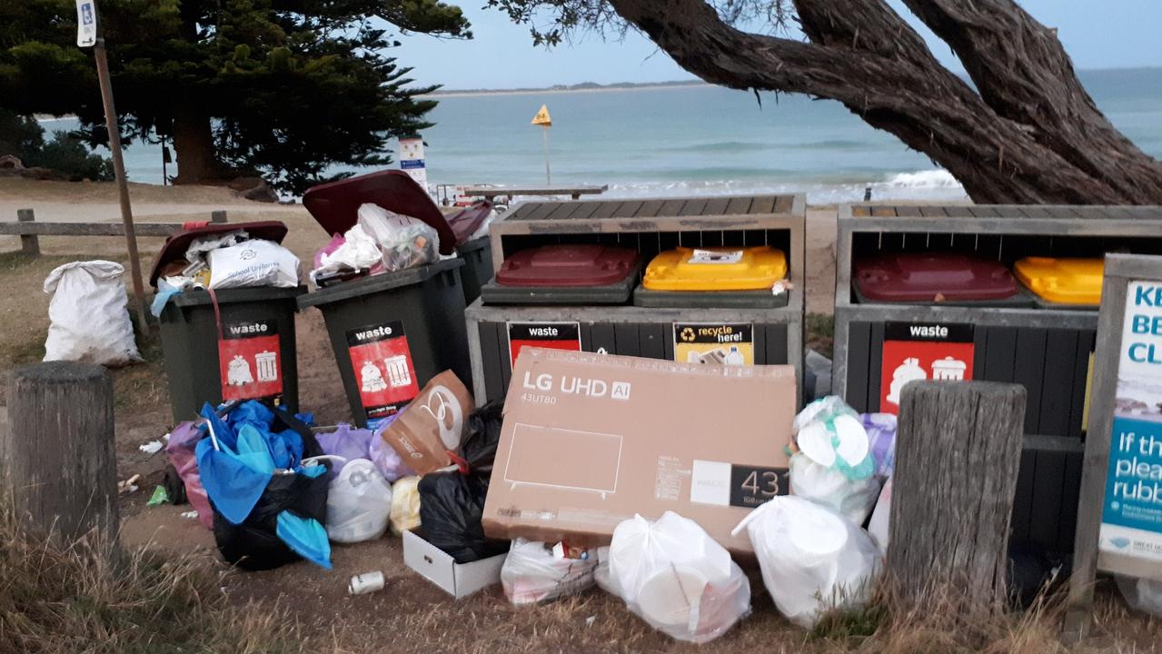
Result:
M302 438L303 459L323 454L310 427L282 409L272 410L272 432L294 430ZM290 511L325 525L329 483L330 475L325 473L316 477L275 474L253 510L237 525L230 524L215 508L214 541L222 558L244 570L270 570L301 560L277 534L279 513Z

